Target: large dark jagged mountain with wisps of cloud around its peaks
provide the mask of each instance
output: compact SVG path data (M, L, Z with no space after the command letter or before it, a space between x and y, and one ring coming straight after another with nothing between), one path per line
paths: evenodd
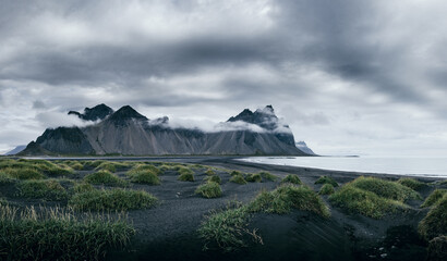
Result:
M89 109L88 113L96 111L95 108ZM88 113L86 109L81 115ZM85 127L48 128L31 145L33 151L28 145L21 154L34 153L38 151L36 146L39 146L41 151L58 154L306 156L294 146L292 132L288 125L281 124L271 105L255 112L245 109L218 124L214 132L171 127L166 116L149 120L132 107L124 105Z

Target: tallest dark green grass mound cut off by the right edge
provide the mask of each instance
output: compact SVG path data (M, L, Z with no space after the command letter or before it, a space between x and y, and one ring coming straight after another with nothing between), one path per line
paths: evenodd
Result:
M447 235L447 194L443 196L419 223L418 231L425 240Z

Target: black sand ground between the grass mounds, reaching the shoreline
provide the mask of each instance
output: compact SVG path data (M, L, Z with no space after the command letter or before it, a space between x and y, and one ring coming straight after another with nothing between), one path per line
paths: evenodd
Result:
M251 243L249 238L247 247L230 253L218 249L203 251L204 241L197 234L197 228L210 211L225 209L233 200L246 203L262 189L273 190L280 184L266 181L238 185L229 182L231 176L225 170L245 173L268 171L281 178L288 174L297 174L315 191L322 186L315 185L315 181L324 175L333 177L340 185L361 175L391 181L402 176L256 164L238 161L232 157L110 160L164 161L214 166L222 178L222 196L206 199L194 194L207 176L204 172L196 172L195 181L191 183L178 182L178 174L168 171L160 176L160 186L132 184L133 189L153 194L160 200L160 204L147 210L129 211L128 219L135 227L136 235L125 250L108 252L107 260L424 260L426 256L426 243L421 240L416 233L418 223L428 211L419 208L423 202L421 200L409 201L407 203L410 209L388 214L379 220L348 213L331 206L327 196L322 197L330 208L331 216L328 220L298 210L281 215L257 213L250 222L249 229L257 229L263 244ZM92 171L80 171L76 175L81 178L87 173ZM117 174L125 176L125 171L118 171ZM436 181L426 177L418 179L424 183ZM427 186L419 192L425 198L433 190L433 186ZM48 204L51 206L51 202Z

